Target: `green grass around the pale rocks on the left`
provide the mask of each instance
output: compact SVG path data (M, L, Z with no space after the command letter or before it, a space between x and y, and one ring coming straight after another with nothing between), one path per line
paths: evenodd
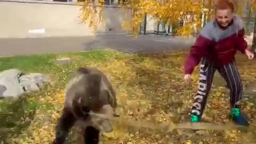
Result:
M0 128L8 128L9 130L13 130L13 133L3 134L3 132L0 132L0 140L8 141L8 138L22 134L28 128L30 122L34 120L36 110L55 110L56 107L54 107L54 104L48 102L42 103L39 101L39 98L44 98L48 92L54 94L57 89L63 89L70 73L80 66L86 66L88 63L107 61L113 55L121 56L114 51L92 50L90 52L79 53L0 58L0 71L17 68L25 74L29 72L40 72L50 74L52 79L58 82L54 87L46 85L46 88L41 91L24 94L14 102L12 100L1 100L0 110L2 114L0 115ZM65 56L72 58L71 62L62 64L56 60L59 57ZM12 114L5 114L6 112L12 112Z

